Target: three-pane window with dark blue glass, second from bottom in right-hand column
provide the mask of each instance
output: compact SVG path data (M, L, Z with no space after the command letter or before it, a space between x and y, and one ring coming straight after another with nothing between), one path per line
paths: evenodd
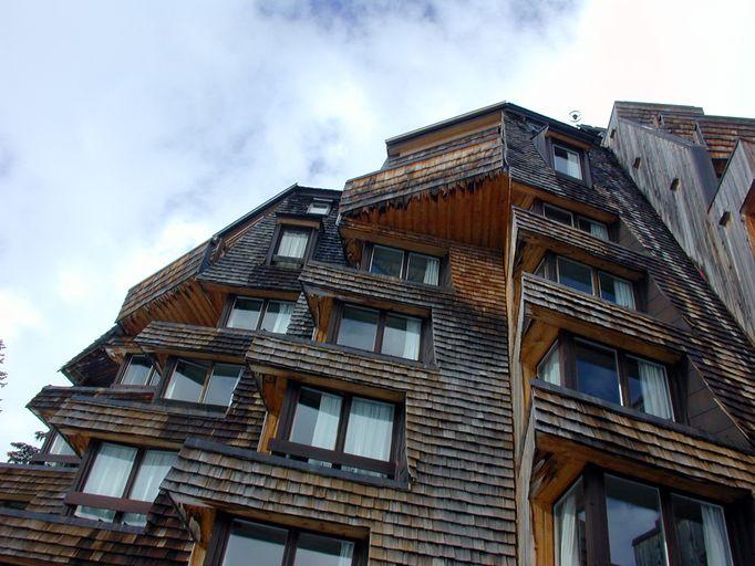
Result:
M537 367L537 376L608 402L673 420L665 366L563 334Z

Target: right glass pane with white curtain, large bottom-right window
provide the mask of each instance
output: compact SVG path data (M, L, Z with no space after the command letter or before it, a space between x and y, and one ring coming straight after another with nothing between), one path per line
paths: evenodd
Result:
M732 553L723 510L681 495L672 495L671 503L681 564L730 566Z

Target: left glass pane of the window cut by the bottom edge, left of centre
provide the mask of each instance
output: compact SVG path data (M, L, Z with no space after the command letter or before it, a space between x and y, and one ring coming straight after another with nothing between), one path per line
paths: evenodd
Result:
M288 531L248 521L234 521L223 566L280 566Z

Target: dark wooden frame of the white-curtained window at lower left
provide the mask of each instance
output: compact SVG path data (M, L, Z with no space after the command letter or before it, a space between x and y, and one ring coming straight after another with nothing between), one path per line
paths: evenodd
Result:
M66 493L65 497L63 499L63 502L68 505L68 514L70 516L75 516L76 507L80 505L87 507L106 509L108 511L115 511L115 515L113 516L112 521L113 524L122 523L123 515L126 513L138 513L143 515L148 514L149 510L152 510L152 506L155 503L154 501L139 501L126 496L114 497L110 495L96 495L94 493L86 493L83 491L86 484L86 480L89 479L90 472L92 471L92 467L94 465L94 462L96 460L97 453L100 452L100 447L104 443L118 444L136 449L136 455L134 457L134 461L131 464L131 470L128 471L126 484L123 488L124 494L131 493L131 491L134 489L136 474L138 473L139 468L142 467L144 455L146 454L147 451L149 450L169 451L159 448L143 447L130 442L112 442L110 440L92 442L92 444L90 444L89 449L86 450L86 454L84 455L81 467L79 468L79 471L76 472L76 475L74 478L73 481L74 490ZM177 451L175 452L178 453Z

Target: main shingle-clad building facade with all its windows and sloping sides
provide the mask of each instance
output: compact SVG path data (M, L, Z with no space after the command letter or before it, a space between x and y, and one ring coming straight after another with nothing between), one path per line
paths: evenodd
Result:
M755 350L607 136L482 108L136 284L0 563L749 564Z

